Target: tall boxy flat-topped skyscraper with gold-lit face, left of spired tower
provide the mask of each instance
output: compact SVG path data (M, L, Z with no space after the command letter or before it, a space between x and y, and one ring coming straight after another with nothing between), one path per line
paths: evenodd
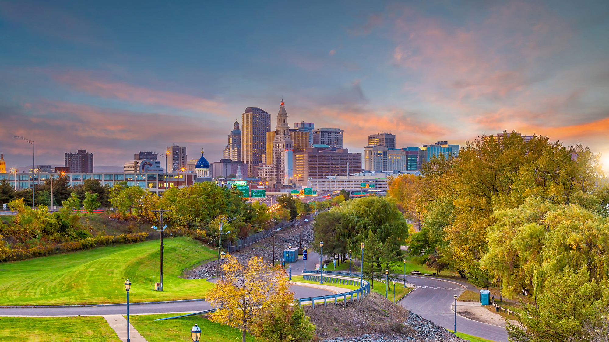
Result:
M241 116L241 123L241 160L247 164L250 176L256 176L255 166L262 162L262 153L266 152L270 114L258 107L247 107Z

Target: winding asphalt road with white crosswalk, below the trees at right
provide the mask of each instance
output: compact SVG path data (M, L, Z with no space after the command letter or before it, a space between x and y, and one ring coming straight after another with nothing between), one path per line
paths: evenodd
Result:
M465 291L465 287L429 277L406 276L406 282L417 285L417 289L398 304L452 331L455 321L452 311L454 295L459 296ZM457 331L491 341L507 341L507 331L504 327L473 321L459 315L457 315Z

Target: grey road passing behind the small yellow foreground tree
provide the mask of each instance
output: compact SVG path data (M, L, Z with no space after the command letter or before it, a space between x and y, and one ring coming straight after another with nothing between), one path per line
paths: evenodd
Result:
M329 290L320 288L292 285L294 298L332 295ZM135 298L131 298L133 300ZM129 313L157 313L157 312L197 312L211 309L207 301L151 303L130 305ZM19 307L0 308L0 316L76 316L76 315L119 315L126 314L126 305L95 306L95 307Z

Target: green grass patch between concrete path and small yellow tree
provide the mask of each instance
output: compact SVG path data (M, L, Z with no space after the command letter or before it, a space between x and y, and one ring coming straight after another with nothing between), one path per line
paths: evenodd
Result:
M131 323L148 342L192 341L190 330L195 324L201 328L201 341L241 342L241 330L213 323L202 316L188 316L184 318L166 319L164 321L154 321L154 319L157 318L179 315L180 314L177 313L175 315L130 316L129 323ZM245 338L247 341L254 341L254 337L249 333Z

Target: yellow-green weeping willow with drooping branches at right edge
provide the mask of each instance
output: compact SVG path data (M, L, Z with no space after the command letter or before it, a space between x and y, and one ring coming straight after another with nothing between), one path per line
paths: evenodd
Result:
M496 211L493 219L481 266L508 294L526 290L537 299L566 268L583 268L590 282L607 279L608 218L577 204L529 198L518 208Z

